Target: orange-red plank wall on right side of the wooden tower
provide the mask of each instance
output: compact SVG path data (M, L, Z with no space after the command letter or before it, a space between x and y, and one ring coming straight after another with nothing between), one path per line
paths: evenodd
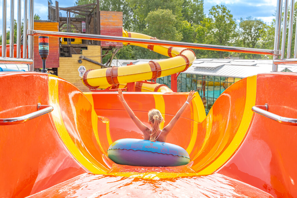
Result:
M100 11L100 34L123 36L123 12ZM102 47L123 47L123 43L101 41Z

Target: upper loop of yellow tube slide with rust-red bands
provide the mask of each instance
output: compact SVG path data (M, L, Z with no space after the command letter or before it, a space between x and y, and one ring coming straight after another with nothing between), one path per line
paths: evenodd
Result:
M125 30L123 30L123 37L156 39L145 34L127 32ZM130 43L123 44L144 47L170 58L124 67L88 70L83 75L82 80L84 85L91 89L95 89L106 88L111 85L121 85L130 82L138 82L148 79L156 80L158 77L168 76L187 70L188 67L191 66L196 59L194 51L187 48Z

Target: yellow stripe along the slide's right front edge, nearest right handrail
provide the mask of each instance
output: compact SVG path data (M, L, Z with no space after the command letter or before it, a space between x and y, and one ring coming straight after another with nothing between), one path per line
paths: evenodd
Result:
M198 172L198 174L208 175L216 171L232 156L232 154L240 145L245 134L247 133L247 129L249 128L249 124L252 120L253 112L251 109L255 105L256 101L256 85L257 75L247 77L247 96L245 101L244 113L233 140L231 141L230 145L226 148L226 150L213 163L211 163L202 171Z

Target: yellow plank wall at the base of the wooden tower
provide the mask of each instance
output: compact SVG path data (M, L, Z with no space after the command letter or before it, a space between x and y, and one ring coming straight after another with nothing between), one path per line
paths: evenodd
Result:
M75 85L80 91L90 91L89 88L83 84L81 77L79 76L78 68L83 65L86 67L86 70L89 70L100 69L101 66L86 60L82 60L82 63L78 63L80 55L101 62L100 46L88 45L88 49L82 50L82 54L72 54L72 57L60 57L58 75Z

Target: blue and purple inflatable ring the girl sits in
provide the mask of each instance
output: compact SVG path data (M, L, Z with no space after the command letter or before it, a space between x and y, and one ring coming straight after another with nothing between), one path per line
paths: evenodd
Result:
M107 150L117 164L146 167L181 166L190 162L189 154L178 145L140 139L120 139Z

